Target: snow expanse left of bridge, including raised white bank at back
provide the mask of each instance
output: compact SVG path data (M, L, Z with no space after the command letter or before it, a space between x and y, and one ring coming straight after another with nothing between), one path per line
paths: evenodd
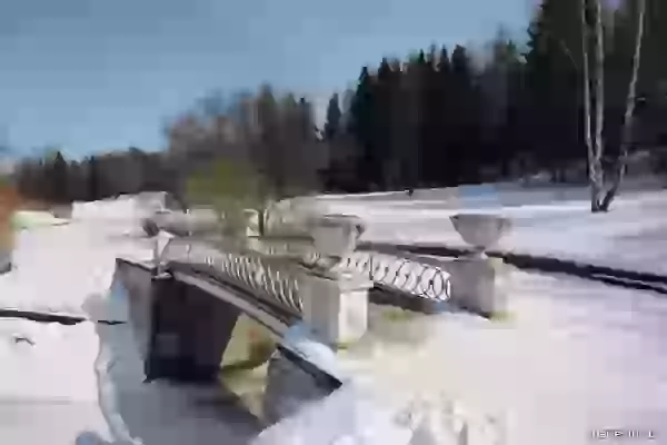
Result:
M29 229L17 233L13 271L0 276L0 309L86 317L83 303L104 295L118 256L152 258L151 240L141 237L140 209L132 199L74 204L67 225L47 212L22 212ZM99 319L123 322L109 301Z

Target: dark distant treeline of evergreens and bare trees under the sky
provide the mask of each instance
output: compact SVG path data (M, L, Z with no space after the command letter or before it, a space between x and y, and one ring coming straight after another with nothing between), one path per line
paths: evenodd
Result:
M633 148L667 145L667 8L648 4ZM605 11L608 158L618 152L634 6L624 0ZM53 151L21 162L16 180L22 194L53 201L182 192L190 175L220 159L251 166L276 196L452 186L541 170L556 181L585 180L579 8L579 0L542 1L526 44L499 32L484 53L431 46L364 67L356 88L330 98L321 128L307 98L270 86L211 93L167 127L165 151L130 148L82 161Z

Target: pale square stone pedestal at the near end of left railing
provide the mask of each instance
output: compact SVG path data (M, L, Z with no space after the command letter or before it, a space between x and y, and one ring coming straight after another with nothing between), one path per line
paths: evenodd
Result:
M368 328L368 290L372 281L357 274L325 276L308 271L299 283L303 320L331 346L361 338Z

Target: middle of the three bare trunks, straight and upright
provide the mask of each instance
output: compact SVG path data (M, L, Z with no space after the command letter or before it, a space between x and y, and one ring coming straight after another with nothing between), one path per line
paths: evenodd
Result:
M595 188L596 196L591 201L591 210L600 211L600 194L604 185L601 167L605 142L603 130L605 127L605 36L603 31L603 2L595 1Z

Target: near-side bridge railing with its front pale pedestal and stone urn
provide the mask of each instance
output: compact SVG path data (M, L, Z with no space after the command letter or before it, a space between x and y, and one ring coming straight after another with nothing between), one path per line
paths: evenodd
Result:
M317 222L311 222L317 225ZM309 323L320 339L330 345L347 344L360 338L367 326L368 289L372 281L352 273L341 273L336 266L356 247L362 230L358 218L323 216L321 228L312 243L303 243L295 258L308 248L319 253L316 264L286 260L290 248L279 255L270 250L270 243L261 239L230 239L225 246L208 241L172 238L159 253L159 265L187 264L192 270L205 273L239 286L257 298L279 304ZM263 246L269 246L263 249Z

